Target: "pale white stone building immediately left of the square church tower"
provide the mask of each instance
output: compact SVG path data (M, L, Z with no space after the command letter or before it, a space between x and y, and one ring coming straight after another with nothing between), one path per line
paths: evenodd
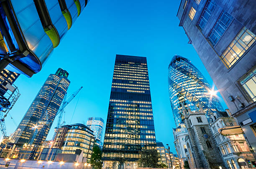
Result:
M184 122L181 122L179 127L172 129L174 135L174 146L179 159L186 160L187 144L185 137L188 136L187 128Z

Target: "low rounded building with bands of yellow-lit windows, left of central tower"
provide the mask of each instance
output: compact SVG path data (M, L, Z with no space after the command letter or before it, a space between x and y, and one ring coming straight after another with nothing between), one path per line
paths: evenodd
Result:
M77 149L83 151L83 157L90 161L95 137L93 131L84 124L61 126L54 138L54 148L62 150L62 154L75 154Z

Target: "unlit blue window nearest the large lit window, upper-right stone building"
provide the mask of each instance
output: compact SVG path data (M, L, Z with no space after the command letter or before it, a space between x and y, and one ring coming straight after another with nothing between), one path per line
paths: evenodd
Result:
M207 39L212 43L213 46L215 46L216 43L220 40L220 37L228 28L232 20L233 17L229 15L228 12L222 12L219 19L212 28L210 35L207 37Z

